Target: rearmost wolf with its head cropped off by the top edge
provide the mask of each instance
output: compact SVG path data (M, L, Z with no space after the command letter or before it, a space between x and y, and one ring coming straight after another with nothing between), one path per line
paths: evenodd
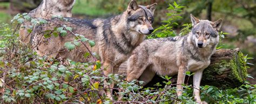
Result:
M34 10L28 13L31 18L50 19L52 16L72 17L72 8L76 0L43 0L42 3ZM31 39L28 33L28 26L32 26L29 21L25 21L20 30L21 41L28 44Z

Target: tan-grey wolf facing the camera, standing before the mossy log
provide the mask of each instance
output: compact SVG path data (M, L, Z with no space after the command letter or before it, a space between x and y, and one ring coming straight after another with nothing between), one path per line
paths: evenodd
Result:
M202 103L199 94L200 81L219 42L218 31L222 20L199 20L192 14L191 20L193 27L187 35L145 40L134 49L127 63L127 80L142 80L145 85L156 73L161 76L178 75L177 94L180 96L185 72L195 72L194 99Z

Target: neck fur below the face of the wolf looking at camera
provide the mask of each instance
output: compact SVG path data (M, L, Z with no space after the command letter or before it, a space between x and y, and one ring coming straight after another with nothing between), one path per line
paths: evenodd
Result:
M212 54L215 52L215 48L217 44L208 44L205 48L198 48L196 46L196 42L192 40L192 32L190 32L187 35L187 40L186 42L188 43L188 51L191 50L196 50L196 51L191 51L191 54L194 57L198 57L200 60L210 60L210 57Z

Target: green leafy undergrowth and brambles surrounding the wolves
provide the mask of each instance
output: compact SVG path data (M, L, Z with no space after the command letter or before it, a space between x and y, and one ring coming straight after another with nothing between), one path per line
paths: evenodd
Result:
M174 5L174 6L173 6ZM170 10L179 12L184 8L176 3L170 5ZM174 15L175 14L175 15ZM180 19L178 13L170 13L172 19L167 20L168 25L163 25L156 33L157 37L174 36L172 25L177 25L172 20ZM66 60L63 65L49 57L39 57L31 48L19 42L17 28L24 21L33 21L35 24L45 24L46 20L31 19L26 14L18 14L14 20L14 29L8 25L1 26L2 40L1 47L3 55L0 61L0 92L1 101L17 103L59 103L59 102L84 102L84 103L111 103L118 102L117 94L123 94L123 102L132 103L172 103L175 101L183 103L194 103L192 85L184 84L182 96L176 94L176 84L172 84L171 77L164 76L164 85L157 83L155 87L143 88L138 86L141 81L127 82L124 76L109 75L104 76L100 61L86 63L73 62ZM191 27L190 24L184 25L185 34ZM163 28L164 27L164 28ZM56 27L55 32L50 35L65 35L67 31L72 32L71 27ZM174 35L173 35L174 34ZM66 42L65 47L72 50L83 43L89 43L91 47L95 43L87 40L82 35L73 34L77 39ZM45 35L46 37L49 34ZM153 35L151 38L154 38ZM79 41L79 42L78 42ZM80 44L82 43L82 44ZM88 53L87 55L92 55ZM86 57L87 57L86 55ZM192 73L187 72L187 76ZM104 81L108 84L116 83L113 89L105 88ZM256 85L245 84L239 88L219 90L214 86L201 86L201 99L209 103L254 103L256 102ZM119 90L113 93L114 100L108 99L105 94L100 94L104 90Z

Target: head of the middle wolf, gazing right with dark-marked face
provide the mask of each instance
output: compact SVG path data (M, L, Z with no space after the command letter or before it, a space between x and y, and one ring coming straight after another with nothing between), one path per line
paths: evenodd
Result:
M154 21L154 10L157 8L157 3L152 5L138 5L136 1L131 1L126 10L127 23L131 30L140 34L151 34L154 29L152 23Z

